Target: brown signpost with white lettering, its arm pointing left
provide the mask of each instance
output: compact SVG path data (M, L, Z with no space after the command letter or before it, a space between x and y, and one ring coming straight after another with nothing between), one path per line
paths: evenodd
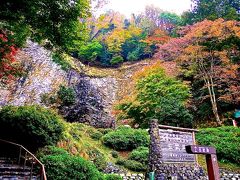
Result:
M189 145L186 146L186 151L189 154L205 154L209 180L220 179L216 149L214 147Z

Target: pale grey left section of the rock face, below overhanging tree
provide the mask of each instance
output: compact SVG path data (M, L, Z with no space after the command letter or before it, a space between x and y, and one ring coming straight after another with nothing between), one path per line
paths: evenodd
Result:
M26 74L18 80L8 104L40 104L42 94L56 92L66 84L66 72L52 62L51 52L37 43L28 41L17 59L24 64Z

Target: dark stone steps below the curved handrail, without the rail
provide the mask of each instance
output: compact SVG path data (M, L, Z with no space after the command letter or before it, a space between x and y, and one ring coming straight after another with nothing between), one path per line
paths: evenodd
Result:
M0 180L35 180L38 179L31 168L15 164L16 160L0 157ZM32 176L32 177L31 177Z

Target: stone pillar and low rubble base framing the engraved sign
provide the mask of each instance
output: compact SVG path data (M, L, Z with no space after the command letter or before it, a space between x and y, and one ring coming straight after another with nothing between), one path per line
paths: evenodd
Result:
M207 179L203 169L197 164L189 163L164 163L162 161L161 143L157 120L150 124L150 153L149 172L155 172L156 180L165 179Z

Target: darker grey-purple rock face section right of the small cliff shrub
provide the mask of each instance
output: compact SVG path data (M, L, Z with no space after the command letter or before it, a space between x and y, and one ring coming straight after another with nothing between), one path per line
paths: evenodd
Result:
M115 79L90 78L74 73L69 83L74 88L77 99L74 105L60 108L68 121L101 128L114 126L110 111L117 90Z

